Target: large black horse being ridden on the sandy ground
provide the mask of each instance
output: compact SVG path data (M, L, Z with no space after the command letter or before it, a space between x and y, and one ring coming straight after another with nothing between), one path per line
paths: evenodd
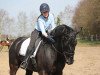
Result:
M43 40L36 55L37 67L34 69L32 62L25 69L26 75L32 75L33 71L39 75L63 75L65 64L74 63L75 46L77 44L76 35L78 31L67 25L55 27L50 35L55 40L54 44ZM10 75L16 75L24 56L19 54L21 44L27 37L17 38L9 48Z

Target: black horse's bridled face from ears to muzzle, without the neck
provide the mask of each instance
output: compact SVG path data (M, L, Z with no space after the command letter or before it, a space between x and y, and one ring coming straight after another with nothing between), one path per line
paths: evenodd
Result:
M76 40L76 32L71 32L67 36L63 36L63 51L66 59L66 63L68 65L73 64L74 62L74 54L75 54L75 46L77 44Z

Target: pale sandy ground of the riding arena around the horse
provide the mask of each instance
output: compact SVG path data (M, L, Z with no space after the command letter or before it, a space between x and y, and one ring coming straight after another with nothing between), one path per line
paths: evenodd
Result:
M100 75L100 47L77 46L74 59L73 65L66 64L63 75ZM0 52L0 75L9 75L7 49ZM25 71L19 69L17 75L25 75Z

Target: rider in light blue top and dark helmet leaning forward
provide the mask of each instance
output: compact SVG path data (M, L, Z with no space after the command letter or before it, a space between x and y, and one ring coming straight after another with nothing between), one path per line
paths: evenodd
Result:
M27 49L25 59L21 64L21 67L24 69L27 68L29 57L35 51L34 45L35 45L36 39L39 37L39 33L41 33L42 36L47 38L49 42L51 43L55 42L55 40L50 35L47 34L47 32L50 33L50 31L56 27L54 23L54 16L49 13L50 12L49 5L46 3L42 3L40 5L40 12L41 12L41 15L37 19L35 30L31 33L31 41ZM32 60L34 61L34 63L36 62L35 57L32 58Z

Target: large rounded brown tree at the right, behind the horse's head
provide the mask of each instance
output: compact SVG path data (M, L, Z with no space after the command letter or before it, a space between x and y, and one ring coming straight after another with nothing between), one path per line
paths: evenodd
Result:
M84 36L100 35L100 0L83 0L73 17L75 27L83 27Z

